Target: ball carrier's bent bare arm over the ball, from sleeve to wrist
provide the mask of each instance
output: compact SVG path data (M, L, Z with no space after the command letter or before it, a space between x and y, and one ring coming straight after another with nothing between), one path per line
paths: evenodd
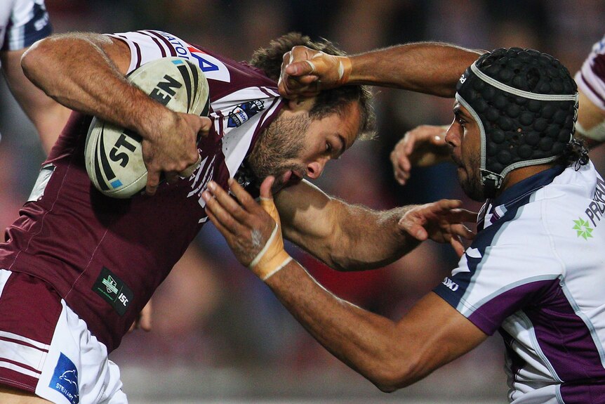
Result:
M145 137L175 117L128 82L124 47L99 34L58 35L34 44L21 63L27 77L62 105Z

